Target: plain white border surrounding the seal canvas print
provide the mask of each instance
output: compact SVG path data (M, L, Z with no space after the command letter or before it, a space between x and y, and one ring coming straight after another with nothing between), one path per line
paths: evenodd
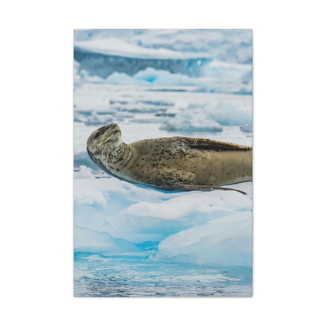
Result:
M279 0L3 5L5 324L319 324L323 12L318 1ZM72 50L81 27L253 28L253 298L73 298Z

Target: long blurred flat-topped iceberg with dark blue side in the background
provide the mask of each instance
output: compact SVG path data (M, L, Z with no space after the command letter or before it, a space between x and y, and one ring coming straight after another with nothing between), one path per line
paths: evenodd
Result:
M221 45L216 44L221 54L219 46ZM212 49L214 47L211 47ZM76 69L78 72L87 71L90 75L88 79L91 80L94 76L95 82L97 77L106 79L114 72L133 76L149 67L191 77L215 76L223 78L224 82L232 81L237 77L243 82L248 82L252 74L250 41L248 45L240 46L237 50L234 55L238 56L238 60L229 62L224 56L216 59L216 53L214 53L216 51L176 51L164 47L151 48L116 38L74 41L74 59L78 62ZM240 60L238 54L241 54ZM247 77L244 78L244 76Z

